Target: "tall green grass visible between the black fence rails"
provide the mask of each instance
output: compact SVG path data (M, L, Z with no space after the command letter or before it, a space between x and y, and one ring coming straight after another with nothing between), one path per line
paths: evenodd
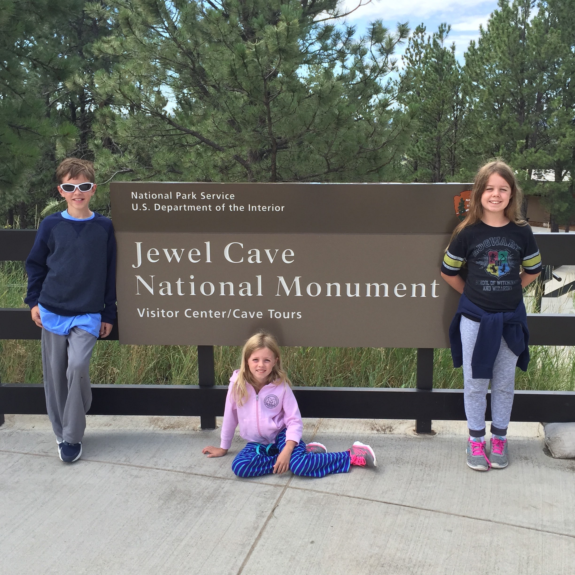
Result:
M24 307L26 273L21 262L0 262L0 307ZM214 349L216 384L228 383L240 347ZM575 348L532 346L526 373L517 370L516 389L573 390ZM294 385L413 388L417 352L408 348L284 347L282 359ZM90 366L98 384L197 385L193 346L120 346L98 342ZM40 342L0 340L3 382L42 382ZM461 389L461 369L450 350L435 350L434 387Z

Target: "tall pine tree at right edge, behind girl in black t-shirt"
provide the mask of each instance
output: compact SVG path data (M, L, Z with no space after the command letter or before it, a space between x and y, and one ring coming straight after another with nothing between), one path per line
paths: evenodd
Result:
M466 53L474 86L476 158L500 156L527 194L542 196L550 224L568 223L573 201L574 0L500 0ZM473 155L469 171L475 169ZM536 181L552 172L554 182ZM563 182L568 177L569 182Z

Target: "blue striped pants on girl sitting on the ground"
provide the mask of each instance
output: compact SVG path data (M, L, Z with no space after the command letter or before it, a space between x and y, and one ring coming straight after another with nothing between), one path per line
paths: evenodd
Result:
M237 477L259 477L271 473L280 451L286 444L286 430L279 432L275 443L262 445L250 442L232 461L232 471ZM295 475L324 477L328 473L347 473L350 470L349 451L333 453L306 453L305 443L292 451L289 468Z

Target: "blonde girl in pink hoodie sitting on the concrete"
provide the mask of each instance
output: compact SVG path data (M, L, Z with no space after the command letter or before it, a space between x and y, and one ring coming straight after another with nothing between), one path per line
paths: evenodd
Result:
M282 369L278 343L269 333L259 332L247 340L241 366L229 379L225 400L221 446L208 446L202 453L221 457L228 453L236 427L248 441L232 462L239 477L268 473L324 477L347 473L351 465L376 467L369 445L356 441L347 451L327 453L321 443L301 440L303 423L291 383Z

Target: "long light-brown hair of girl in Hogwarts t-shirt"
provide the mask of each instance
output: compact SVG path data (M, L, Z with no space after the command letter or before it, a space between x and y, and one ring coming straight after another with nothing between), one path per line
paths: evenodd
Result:
M481 205L481 196L483 195L485 188L487 187L487 182L489 178L497 174L503 178L511 188L511 197L509 198L509 204L505 206L504 214L509 221L512 221L517 225L527 225L527 222L523 219L521 213L521 207L523 204L523 192L517 184L517 179L511 167L509 167L505 162L500 159L493 160L492 162L486 163L484 166L479 168L475 179L473 181L473 189L471 189L471 198L469 202L469 212L465 216L465 220L458 224L451 234L451 243L458 233L462 229L469 225L477 224L478 221L483 217L483 206Z

